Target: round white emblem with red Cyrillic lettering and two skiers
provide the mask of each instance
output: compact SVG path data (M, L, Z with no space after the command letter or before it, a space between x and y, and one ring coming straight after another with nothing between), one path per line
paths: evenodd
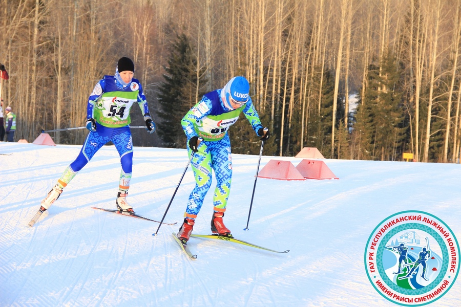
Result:
M459 245L451 229L423 211L387 217L371 233L365 269L374 289L404 306L429 304L450 290L459 272Z

